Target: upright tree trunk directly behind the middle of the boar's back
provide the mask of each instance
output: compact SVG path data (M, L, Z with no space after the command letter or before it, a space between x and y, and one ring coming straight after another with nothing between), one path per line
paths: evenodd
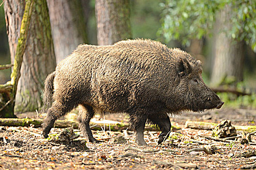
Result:
M110 45L132 37L129 0L96 0L98 45Z

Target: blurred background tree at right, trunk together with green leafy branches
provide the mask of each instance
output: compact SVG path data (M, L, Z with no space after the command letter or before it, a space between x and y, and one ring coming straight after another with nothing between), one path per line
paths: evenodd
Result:
M209 36L215 27L217 31L213 83L219 84L224 77L242 80L242 41L256 51L256 1L166 0L161 6L163 18L159 34L167 42L180 40L189 46L191 39Z

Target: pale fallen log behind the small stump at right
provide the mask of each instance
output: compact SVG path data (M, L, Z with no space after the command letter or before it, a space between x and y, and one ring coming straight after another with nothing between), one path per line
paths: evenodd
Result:
M217 126L217 123L209 123L204 121L186 121L186 127L191 129L200 129L200 130L213 130ZM256 126L234 126L237 131L243 132L255 132Z

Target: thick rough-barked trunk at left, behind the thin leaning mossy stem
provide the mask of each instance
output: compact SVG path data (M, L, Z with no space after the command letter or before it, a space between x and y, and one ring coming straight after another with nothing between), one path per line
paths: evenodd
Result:
M20 36L24 0L5 0L4 10L11 60ZM56 67L46 0L35 0L27 45L20 70L15 112L35 111L42 106L41 92L46 76Z

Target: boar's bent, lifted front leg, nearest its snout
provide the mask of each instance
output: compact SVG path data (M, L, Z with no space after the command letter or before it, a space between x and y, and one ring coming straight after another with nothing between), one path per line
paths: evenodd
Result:
M162 143L164 139L167 139L169 132L171 131L171 121L168 115L164 114L159 116L159 114L150 115L148 120L152 124L157 124L161 129L162 133L159 135L158 144Z

